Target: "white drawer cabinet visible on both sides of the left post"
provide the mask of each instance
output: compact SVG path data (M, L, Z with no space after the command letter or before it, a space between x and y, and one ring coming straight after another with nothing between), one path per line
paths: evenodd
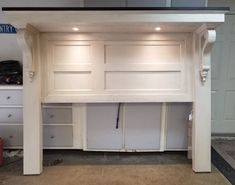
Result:
M22 86L0 86L0 137L4 147L23 147ZM44 148L74 148L72 104L43 104Z

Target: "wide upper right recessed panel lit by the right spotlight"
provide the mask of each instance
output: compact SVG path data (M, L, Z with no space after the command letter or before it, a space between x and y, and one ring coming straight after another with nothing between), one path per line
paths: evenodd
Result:
M118 43L118 42L117 42ZM121 42L105 45L105 63L179 63L181 48L178 43Z

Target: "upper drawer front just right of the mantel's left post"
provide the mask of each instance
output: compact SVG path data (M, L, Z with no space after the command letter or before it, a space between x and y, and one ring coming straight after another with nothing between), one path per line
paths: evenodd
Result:
M72 108L44 108L44 124L72 123Z

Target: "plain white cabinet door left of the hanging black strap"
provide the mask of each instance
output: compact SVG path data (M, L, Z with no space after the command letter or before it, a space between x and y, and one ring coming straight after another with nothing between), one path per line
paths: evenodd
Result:
M116 129L117 104L87 104L87 149L122 149L122 123Z

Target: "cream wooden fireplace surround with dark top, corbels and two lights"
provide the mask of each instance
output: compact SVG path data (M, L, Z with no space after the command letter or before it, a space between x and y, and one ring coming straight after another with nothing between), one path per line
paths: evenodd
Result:
M42 172L41 103L76 106L86 150L86 103L192 102L192 168L211 171L210 53L226 8L3 11L23 52L25 175Z

